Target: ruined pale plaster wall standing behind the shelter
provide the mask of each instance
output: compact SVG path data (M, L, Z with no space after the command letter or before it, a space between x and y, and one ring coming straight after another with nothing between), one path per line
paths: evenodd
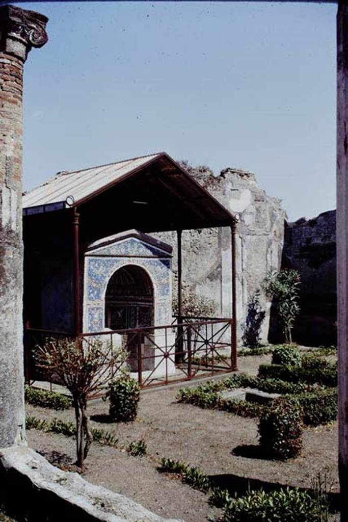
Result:
M187 165L184 165L187 168ZM267 196L254 174L225 169L214 177L208 168L188 168L190 175L205 187L239 221L236 234L237 333L242 342L248 303L261 287L268 270L281 266L285 212L280 201ZM173 245L176 275L176 233L158 236ZM230 228L183 232L183 282L196 293L218 305L218 313L231 316L232 258ZM267 342L270 301L261 293L260 304L266 313L261 340Z

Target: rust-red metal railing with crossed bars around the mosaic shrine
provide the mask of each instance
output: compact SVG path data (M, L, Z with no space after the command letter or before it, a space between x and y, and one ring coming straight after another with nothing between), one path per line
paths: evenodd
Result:
M80 334L78 338L48 330L26 329L26 378L42 379L35 375L32 350L47 338L68 337L71 341L88 343L100 339L110 343L113 350L126 348L127 364L133 376L137 375L141 388L187 381L206 375L231 372L236 369L233 353L233 320L183 317L175 324L107 330ZM116 362L116 369L124 364ZM49 380L49 376L45 376Z

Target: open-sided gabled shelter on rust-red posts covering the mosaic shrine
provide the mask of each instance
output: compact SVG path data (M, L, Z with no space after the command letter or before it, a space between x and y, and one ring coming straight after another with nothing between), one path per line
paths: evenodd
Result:
M87 284L88 259L91 255L95 255L96 248L97 250L99 248L99 257L109 255L102 252L102 246L109 245L110 250L110 244L122 238L122 234L129 230L133 230L133 240L142 245L140 250L144 245L148 250L139 251L138 254L124 252L124 256L128 255L132 258L130 265L133 268L116 271L115 264L115 273L108 272L110 281L103 295L104 324L100 322L97 324L115 329L117 323L107 319L108 326L105 318L111 317L110 303L117 293L115 289L120 289L122 284L124 288L135 285L138 288L136 292L142 293L138 295L139 300L142 300L142 310L146 310L147 306L150 310L151 299L154 297L153 292L151 295L151 275L149 272L147 275L141 272L139 260L143 260L148 255L158 258L159 250L161 251L162 248L162 255L164 255L167 246L158 244L159 250L151 254L151 238L145 235L141 238L141 234L175 230L178 250L177 324L179 338L182 339L176 341L177 351L178 344L183 346L183 343L187 343L183 333L184 327L181 326L185 324L181 299L181 233L186 229L210 227L231 227L233 238L231 302L233 321L235 321L234 217L170 156L161 152L99 167L57 173L51 180L23 196L25 322L31 329L61 331L75 336L89 334L92 329L95 331L86 319L87 306L90 305L88 299L86 300L86 291L91 291ZM169 251L165 255L168 254ZM134 267L135 258L138 259L138 268ZM100 262L99 267L102 265L103 263ZM125 265L124 263L123 266ZM106 312L108 302L109 311ZM169 326L158 323L159 321L152 321L148 328ZM143 327L137 322L122 323L120 326L127 326L127 330L129 327L133 329ZM229 364L231 370L236 367L236 333L232 322L229 326L232 331ZM210 330L210 338L207 330L205 337L208 337L203 342L206 347L206 360L212 345L212 337L217 331L216 325ZM202 331L201 327L199 331ZM150 335L150 330L148 334ZM167 334L169 330L166 331ZM151 335L153 336L153 331ZM153 337L150 341L153 342ZM140 344L144 345L143 335L139 346ZM163 351L163 353L166 362L169 360L173 362L172 352ZM175 357L176 360L183 359L183 357L178 358L177 354Z

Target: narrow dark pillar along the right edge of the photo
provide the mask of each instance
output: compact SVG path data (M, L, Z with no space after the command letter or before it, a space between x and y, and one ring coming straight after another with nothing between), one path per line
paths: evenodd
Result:
M348 520L348 4L337 14L337 293L341 520Z

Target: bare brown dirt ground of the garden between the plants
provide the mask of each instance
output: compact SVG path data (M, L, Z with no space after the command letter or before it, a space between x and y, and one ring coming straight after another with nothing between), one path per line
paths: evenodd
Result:
M268 355L243 357L238 361L239 370L256 374L258 365L269 360ZM142 438L147 443L148 455L131 457L125 450L95 443L86 461L83 474L86 480L123 493L163 517L181 518L185 522L216 519L221 510L208 504L207 495L159 473L156 467L161 457L199 466L216 483L231 490L241 484L247 487L248 481L253 487L253 480L258 481L258 485L262 482L265 487L277 483L310 488L311 479L318 472L326 472L332 480L333 491L338 490L336 423L307 428L300 457L287 462L269 461L262 459L255 448L258 444L256 420L178 404L177 392L178 387L142 392L138 417L133 423L92 421L93 426L114 432L120 444ZM90 402L91 416L107 412L107 402ZM56 412L28 406L27 413L45 419L74 420L73 410ZM30 430L28 440L32 448L53 463L69 464L75 460L72 438ZM245 445L246 451L243 452L243 448L238 451Z

